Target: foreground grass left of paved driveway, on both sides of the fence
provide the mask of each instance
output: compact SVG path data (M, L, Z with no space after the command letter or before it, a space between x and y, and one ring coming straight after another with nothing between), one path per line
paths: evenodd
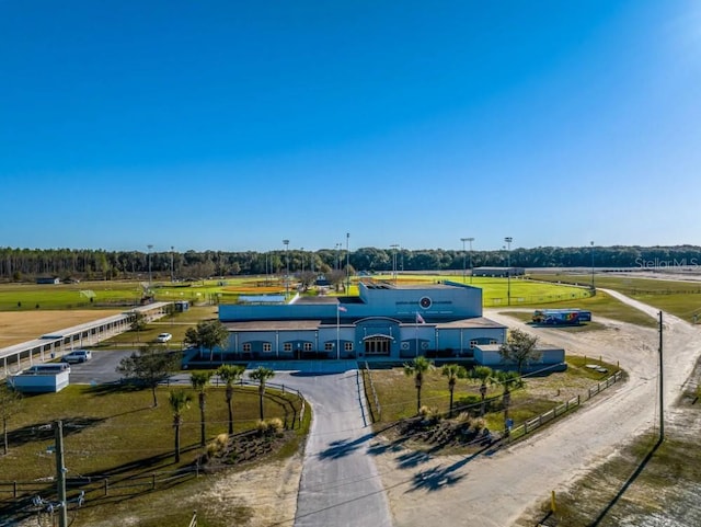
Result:
M197 394L185 387L193 402L183 414L181 428L182 457L176 463L173 456L173 415L168 402L169 389L158 389L159 405L151 406L150 390L137 390L120 386L70 386L58 393L25 397L21 402L21 412L8 422L10 451L0 456L0 517L9 517L12 509L12 482L16 481L20 493L35 489L33 493L50 495L55 485L50 483L56 471L55 455L50 447L55 445L54 432L44 425L61 420L64 424L65 466L69 478L91 478L95 481L110 480L110 496L101 489L92 491L85 499L85 505L76 515L76 526L95 525L110 522L114 514L127 514L142 518L139 525L149 527L170 527L186 525L192 516L192 504L181 503L180 492L202 492L217 481L216 476L194 477L180 480L165 491L151 491L148 485L142 491L129 488L129 482L143 482L152 473L170 473L192 467L204 449L199 446L199 408ZM234 388L234 433L255 428L258 420L257 388ZM265 417L279 417L290 427L295 423L294 439L275 456L266 458L274 461L298 451L309 429L309 406L300 426L299 411L301 401L290 392L280 393L272 388L266 390L264 399ZM294 410L292 410L294 409ZM296 419L297 417L297 419ZM206 405L207 438L227 432L228 414L223 387L207 389ZM231 468L228 470L239 470ZM30 482L31 483L30 485ZM69 493L71 497L74 492ZM166 509L158 513L153 502L170 496ZM128 504L126 509L120 505ZM124 509L124 511L122 511ZM226 527L232 518L206 514L200 508L200 523L209 527ZM148 520L143 518L150 518ZM116 525L112 524L112 525Z

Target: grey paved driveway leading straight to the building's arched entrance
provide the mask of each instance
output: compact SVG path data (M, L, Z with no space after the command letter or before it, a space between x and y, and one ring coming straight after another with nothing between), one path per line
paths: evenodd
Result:
M375 459L368 455L372 429L357 364L325 362L300 366L299 371L278 371L274 379L300 390L314 412L295 526L391 526ZM289 368L289 363L284 367Z

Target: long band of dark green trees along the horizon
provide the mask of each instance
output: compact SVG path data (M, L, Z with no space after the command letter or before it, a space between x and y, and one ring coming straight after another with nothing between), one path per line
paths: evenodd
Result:
M361 248L319 251L103 251L82 249L0 248L0 279L22 280L37 276L61 279L203 278L239 274L279 274L345 270L392 272L459 271L471 266L518 267L634 267L660 268L701 264L701 248L677 247L539 247L501 251Z

